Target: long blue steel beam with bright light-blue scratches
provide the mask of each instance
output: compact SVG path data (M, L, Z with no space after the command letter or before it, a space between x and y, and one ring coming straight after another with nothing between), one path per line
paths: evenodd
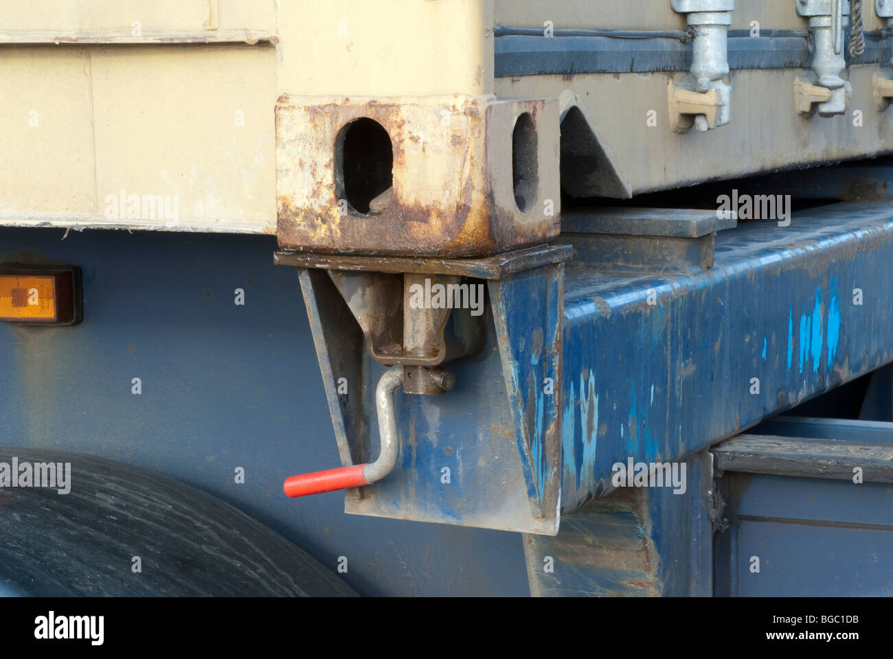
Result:
M681 460L893 360L891 264L889 204L723 231L694 276L569 263L563 511L614 463Z

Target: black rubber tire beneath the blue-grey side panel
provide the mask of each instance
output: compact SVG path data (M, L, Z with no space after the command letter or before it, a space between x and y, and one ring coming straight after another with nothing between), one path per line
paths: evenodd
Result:
M356 595L279 534L177 480L92 455L0 447L0 463L13 455L71 463L71 492L0 487L0 593Z

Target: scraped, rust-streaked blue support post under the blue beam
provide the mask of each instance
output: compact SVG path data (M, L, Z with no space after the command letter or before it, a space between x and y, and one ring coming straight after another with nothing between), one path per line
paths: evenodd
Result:
M618 488L563 516L555 538L525 533L531 594L710 596L714 561L709 455L686 462L686 481L685 491Z

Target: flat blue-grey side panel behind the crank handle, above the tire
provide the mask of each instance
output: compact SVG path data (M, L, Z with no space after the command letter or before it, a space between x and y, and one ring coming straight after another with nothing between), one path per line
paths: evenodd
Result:
M4 261L84 269L85 321L0 327L0 438L132 463L235 505L363 595L527 595L515 533L344 513L282 480L338 464L296 272L273 238L4 229ZM16 255L18 254L18 255ZM244 288L246 304L233 304ZM142 394L130 393L142 379ZM246 483L234 483L237 466Z

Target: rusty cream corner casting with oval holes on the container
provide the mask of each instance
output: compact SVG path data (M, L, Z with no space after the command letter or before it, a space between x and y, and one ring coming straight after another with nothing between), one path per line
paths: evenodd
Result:
M554 102L470 96L399 101L280 96L280 246L323 254L455 257L511 251L558 234L559 209L547 214L543 203L560 199ZM539 140L538 203L529 213L513 196L513 122L522 113L537 121ZM364 118L387 131L392 152L392 188L380 196L380 206L370 205L377 213L346 203L337 171L339 158L347 157L338 154L339 134Z

